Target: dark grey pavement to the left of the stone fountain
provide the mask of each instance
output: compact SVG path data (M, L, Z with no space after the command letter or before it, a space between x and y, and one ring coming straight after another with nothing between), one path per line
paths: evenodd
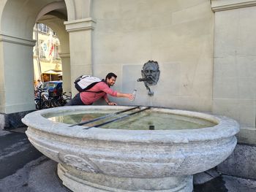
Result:
M0 131L0 192L69 191L57 176L56 162L39 153L24 131Z

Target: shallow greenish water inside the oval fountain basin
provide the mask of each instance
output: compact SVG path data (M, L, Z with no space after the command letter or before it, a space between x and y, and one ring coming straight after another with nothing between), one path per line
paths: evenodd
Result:
M99 123L104 123L108 120L118 118L122 115L127 115L128 113L122 113L119 115L113 115L109 118L104 118L102 120L97 120L93 123L86 124L85 126L95 126ZM50 120L75 124L87 120L92 120L94 118L99 118L108 115L108 113L80 113L75 115L63 115L49 118ZM216 126L208 120L200 118L191 118L183 115L172 115L165 112L140 112L138 114L129 116L122 120L116 120L112 123L108 123L101 128L116 128L116 129L132 129L132 130L147 130L149 126L154 126L155 130L167 130L167 129L193 129L193 128L205 128Z

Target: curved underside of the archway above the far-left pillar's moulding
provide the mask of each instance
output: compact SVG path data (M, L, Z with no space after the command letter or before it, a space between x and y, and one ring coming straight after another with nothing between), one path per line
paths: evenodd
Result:
M0 6L4 6L0 9L0 32L10 37L32 39L34 23L40 19L54 16L67 20L64 0L7 0Z

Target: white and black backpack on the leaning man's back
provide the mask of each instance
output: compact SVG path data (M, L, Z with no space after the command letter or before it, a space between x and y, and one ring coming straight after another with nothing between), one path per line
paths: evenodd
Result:
M75 88L79 92L83 92L83 91L89 90L90 88L92 88L94 85L96 85L98 82L101 82L101 81L102 80L100 80L98 77L92 77L90 75L81 75L75 80L74 83L75 83ZM88 92L93 92L93 91L88 91ZM99 91L99 92L102 92L102 91Z

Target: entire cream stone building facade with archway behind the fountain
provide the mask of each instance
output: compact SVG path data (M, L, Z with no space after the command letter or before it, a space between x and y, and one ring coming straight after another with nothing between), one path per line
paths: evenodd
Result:
M226 115L241 125L239 142L256 144L256 1L2 0L0 7L1 114L34 110L33 28L44 23L59 37L64 91L74 95L81 74L115 72L117 90L138 90L135 104ZM160 70L152 97L137 82L148 60Z

